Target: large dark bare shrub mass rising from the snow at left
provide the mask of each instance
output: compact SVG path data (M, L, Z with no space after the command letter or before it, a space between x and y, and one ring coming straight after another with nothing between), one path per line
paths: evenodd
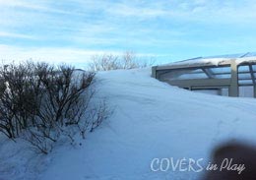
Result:
M43 153L52 150L60 137L73 143L80 131L85 138L88 127L95 129L107 114L105 104L97 108L91 103L94 79L95 73L78 73L67 65L27 62L3 66L0 132L10 139L22 135Z

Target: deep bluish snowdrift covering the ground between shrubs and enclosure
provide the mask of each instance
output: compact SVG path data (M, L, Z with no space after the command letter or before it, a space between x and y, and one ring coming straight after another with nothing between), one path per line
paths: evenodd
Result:
M82 146L48 155L1 139L0 180L198 179L195 172L154 172L156 158L204 158L227 140L256 143L256 100L195 93L153 79L150 69L100 72L97 97L114 112ZM6 143L4 143L5 141Z

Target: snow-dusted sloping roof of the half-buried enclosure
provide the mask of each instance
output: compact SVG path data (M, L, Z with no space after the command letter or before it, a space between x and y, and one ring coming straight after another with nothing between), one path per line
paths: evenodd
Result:
M229 64L230 60L235 60L236 64L256 63L256 52L247 52L240 54L228 54L208 57L196 57L183 61L173 62L159 66L159 68L175 68L175 67L195 67L195 66L219 66Z

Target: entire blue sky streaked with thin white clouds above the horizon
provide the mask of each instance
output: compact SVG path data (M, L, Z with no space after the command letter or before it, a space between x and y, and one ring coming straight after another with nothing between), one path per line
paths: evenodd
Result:
M159 62L256 51L254 0L0 0L0 59Z

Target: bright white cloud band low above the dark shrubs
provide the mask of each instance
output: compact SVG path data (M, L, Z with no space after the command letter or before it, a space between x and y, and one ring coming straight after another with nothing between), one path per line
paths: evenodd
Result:
M90 50L79 48L63 47L40 47L23 48L0 44L0 60L7 62L22 62L27 60L44 61L49 63L69 63L73 65L85 66L94 55L113 54L122 55L123 51L113 50ZM138 53L137 56L155 57L156 54Z

